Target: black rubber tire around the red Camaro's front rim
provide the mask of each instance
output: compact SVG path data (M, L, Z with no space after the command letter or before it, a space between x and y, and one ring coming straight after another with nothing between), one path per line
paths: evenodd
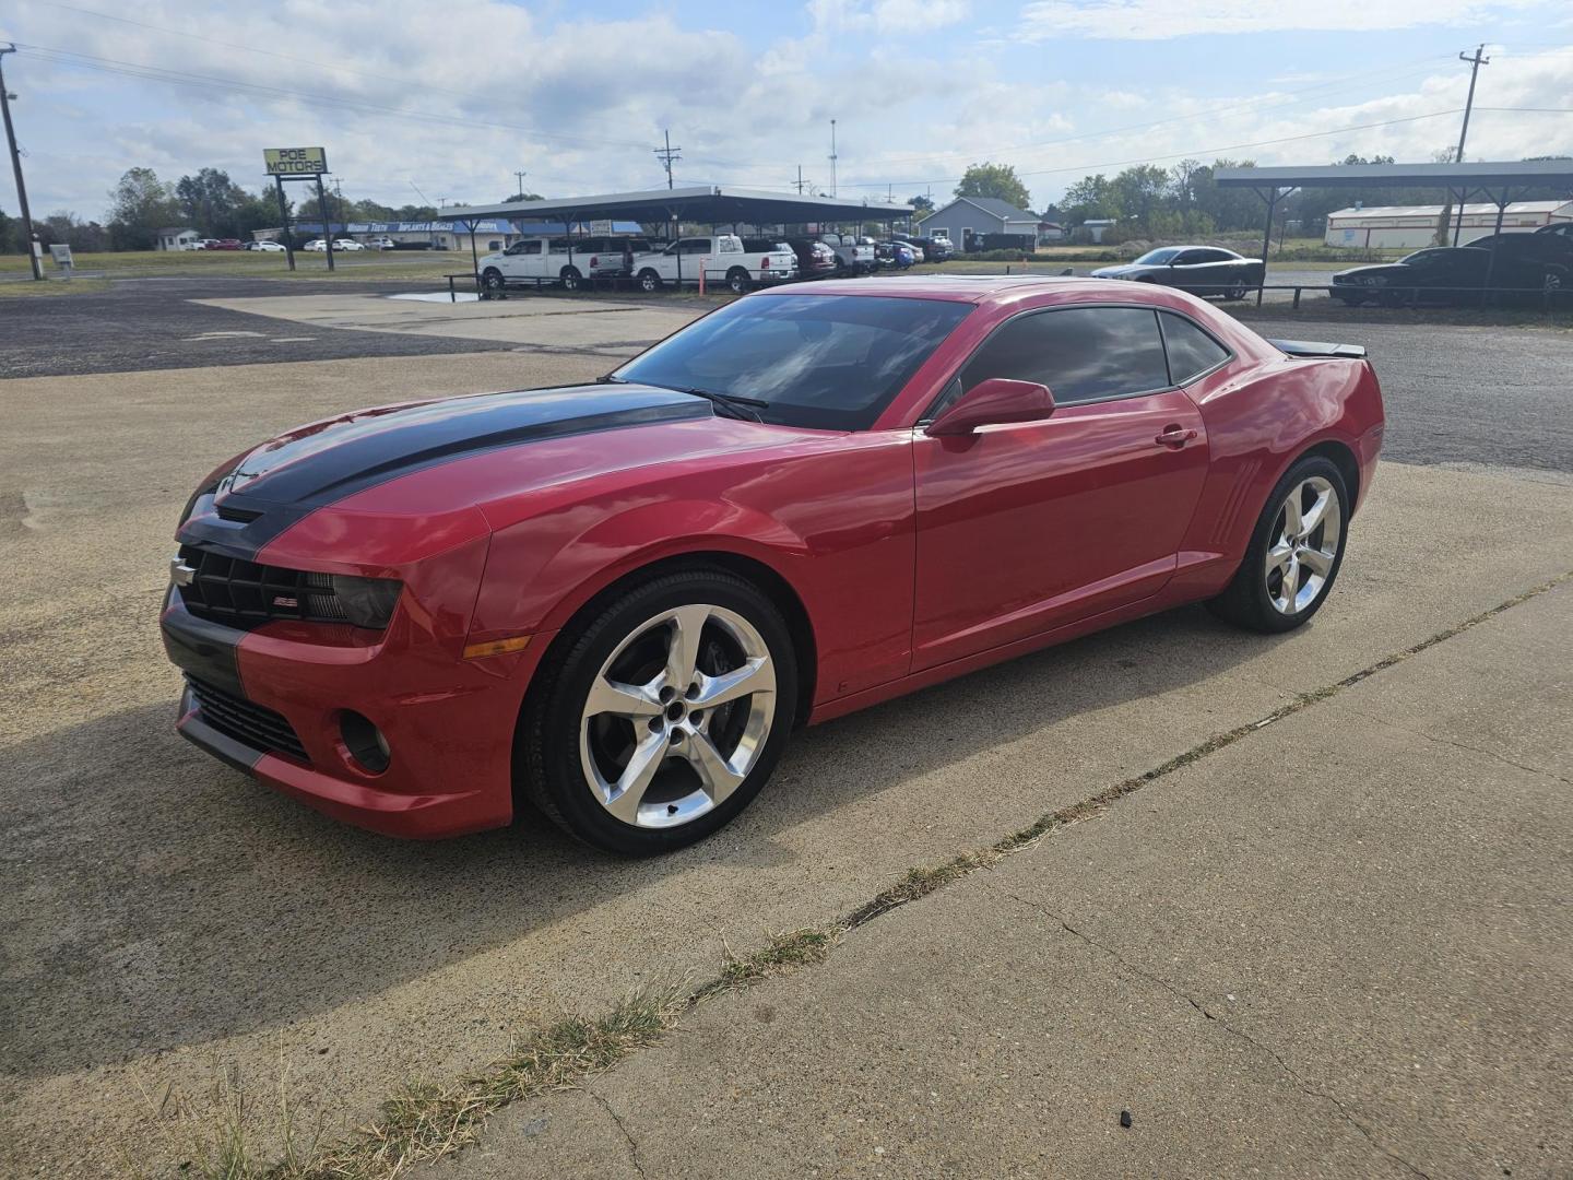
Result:
M775 673L772 705L761 706L761 716L771 719L769 730L747 776L725 801L681 826L635 826L612 815L587 779L579 744L585 702L602 666L620 645L631 636L650 634L645 625L661 612L691 604L735 612L763 639ZM706 629L705 634L713 632ZM624 856L669 853L703 840L749 806L780 760L796 708L796 653L775 604L750 582L720 570L664 574L615 598L591 603L563 629L536 673L521 716L514 739L516 791L569 835L595 848ZM654 724L651 719L651 727ZM634 736L637 741L639 735ZM681 777L686 771L678 774Z

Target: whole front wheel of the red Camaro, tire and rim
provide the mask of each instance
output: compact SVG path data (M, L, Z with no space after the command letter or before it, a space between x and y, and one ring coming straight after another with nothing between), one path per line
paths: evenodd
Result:
M786 623L722 571L667 574L571 628L530 692L522 791L585 843L664 853L728 823L764 787L791 730Z

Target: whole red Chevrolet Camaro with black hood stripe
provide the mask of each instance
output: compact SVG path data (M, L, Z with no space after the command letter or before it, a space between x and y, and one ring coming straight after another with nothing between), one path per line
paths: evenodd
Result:
M379 832L697 840L794 725L1181 603L1310 618L1376 469L1364 349L1184 293L870 278L739 299L588 385L220 466L162 614L179 730Z

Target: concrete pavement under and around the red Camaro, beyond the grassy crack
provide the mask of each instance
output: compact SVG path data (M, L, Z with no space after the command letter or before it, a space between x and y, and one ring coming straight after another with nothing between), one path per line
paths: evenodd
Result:
M171 1163L143 1089L203 1095L230 1065L271 1093L283 1062L302 1117L348 1130L409 1076L461 1076L532 1020L713 974L727 946L846 913L1573 554L1565 485L1387 464L1306 631L1173 612L807 732L738 824L659 862L535 821L379 840L173 735L157 603L173 516L217 459L338 409L606 367L486 352L0 382L0 1174Z

